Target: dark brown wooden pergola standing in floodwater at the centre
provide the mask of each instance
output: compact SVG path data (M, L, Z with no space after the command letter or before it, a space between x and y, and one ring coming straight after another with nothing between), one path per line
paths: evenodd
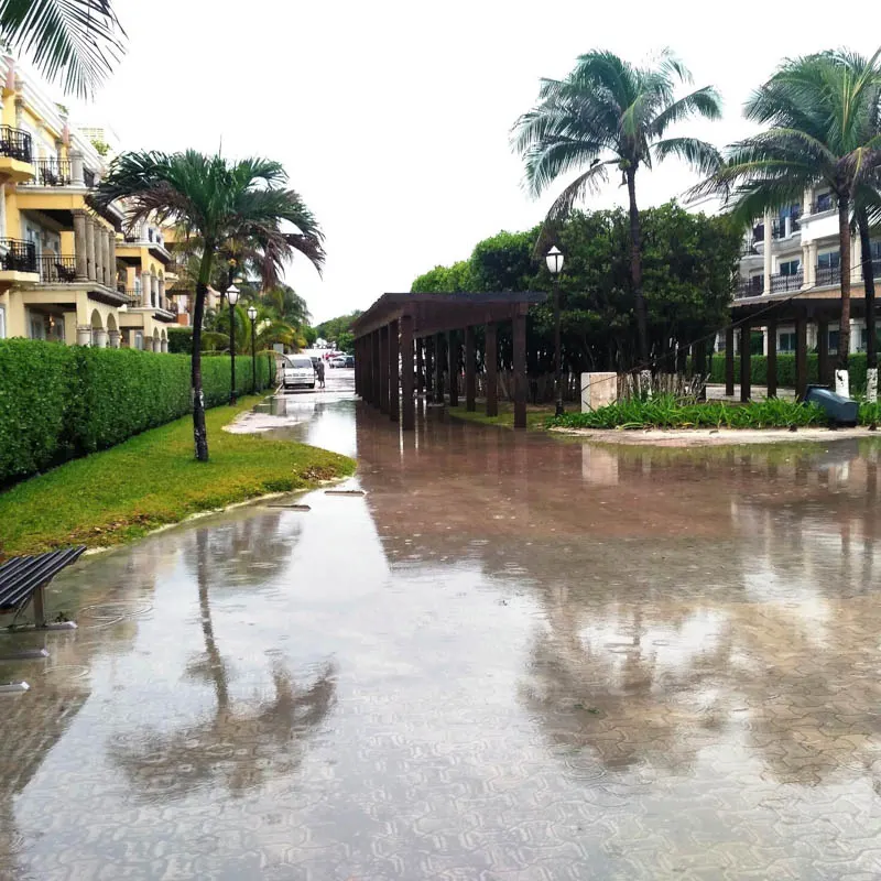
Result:
M526 312L546 298L543 292L383 294L352 327L355 390L368 403L416 427L415 395L434 390L444 402L444 376L450 406L458 406L459 342L465 334L465 400L476 410L477 347L475 328L486 330L487 415L499 412L498 326L513 327L514 427L526 427ZM447 363L444 370L444 361ZM400 366L400 374L399 374ZM434 368L434 369L432 369ZM418 385L418 388L417 388ZM400 398L399 398L400 388Z

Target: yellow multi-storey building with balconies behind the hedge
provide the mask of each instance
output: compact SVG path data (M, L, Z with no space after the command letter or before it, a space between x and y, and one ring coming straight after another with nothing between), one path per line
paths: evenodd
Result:
M91 206L104 161L36 76L6 56L0 84L0 338L167 350L161 237Z

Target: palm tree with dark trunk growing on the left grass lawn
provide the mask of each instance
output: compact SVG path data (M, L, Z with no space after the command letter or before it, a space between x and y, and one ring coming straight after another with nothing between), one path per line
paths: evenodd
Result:
M271 242L279 253L304 253L320 271L324 264L320 228L303 199L286 188L287 175L278 162L247 159L228 162L205 156L153 151L123 153L99 184L95 199L109 205L126 199L127 220L134 225L148 217L175 222L203 242L193 313L193 436L196 458L208 460L205 404L202 393L202 324L205 296L215 257L230 239L257 238ZM295 236L282 231L289 222Z

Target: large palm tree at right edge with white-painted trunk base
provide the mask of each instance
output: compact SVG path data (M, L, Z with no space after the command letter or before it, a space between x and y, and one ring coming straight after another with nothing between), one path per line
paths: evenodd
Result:
M786 61L750 97L748 119L770 124L730 146L713 178L733 189L733 217L744 226L764 211L828 186L838 208L841 317L836 391L849 394L850 217L860 187L881 166L877 128L881 100L881 50L871 58L844 51Z

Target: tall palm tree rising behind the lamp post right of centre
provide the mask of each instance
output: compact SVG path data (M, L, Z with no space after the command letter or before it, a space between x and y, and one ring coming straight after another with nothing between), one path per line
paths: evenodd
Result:
M578 176L554 202L548 220L559 220L573 205L621 172L630 204L630 274L637 313L641 367L649 365L649 319L642 291L637 172L641 165L678 156L708 174L718 167L716 149L695 138L665 137L671 126L694 116L718 119L721 101L713 87L676 98L676 83L690 81L687 68L670 53L652 67L635 67L611 52L578 57L565 79L543 79L536 106L514 124L513 146L525 162L526 185L541 195L557 177Z

